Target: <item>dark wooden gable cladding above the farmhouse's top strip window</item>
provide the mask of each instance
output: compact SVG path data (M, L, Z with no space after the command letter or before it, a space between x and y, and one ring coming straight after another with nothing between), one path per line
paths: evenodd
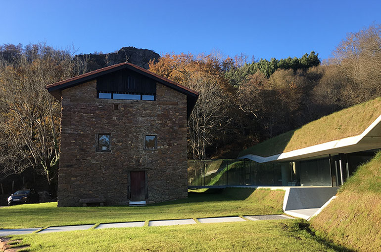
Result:
M156 94L156 81L129 69L96 78L96 90L137 94Z

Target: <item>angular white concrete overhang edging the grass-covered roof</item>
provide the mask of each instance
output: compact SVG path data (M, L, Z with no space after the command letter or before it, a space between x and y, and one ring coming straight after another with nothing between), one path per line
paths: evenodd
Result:
M238 158L247 158L258 163L286 162L327 154L352 153L378 148L381 148L381 115L360 135L342 138L323 144L316 144L268 157L247 154Z

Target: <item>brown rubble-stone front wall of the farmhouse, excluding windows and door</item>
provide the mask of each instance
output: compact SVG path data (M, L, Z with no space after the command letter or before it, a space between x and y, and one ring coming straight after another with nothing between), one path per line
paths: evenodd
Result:
M157 83L156 101L97 99L94 80L62 90L61 116L59 207L128 204L130 171L146 171L147 203L187 197L186 95ZM111 152L96 152L96 134L110 134Z

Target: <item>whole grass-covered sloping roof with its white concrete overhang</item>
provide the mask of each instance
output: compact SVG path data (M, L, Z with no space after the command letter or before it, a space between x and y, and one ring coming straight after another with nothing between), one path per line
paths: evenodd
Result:
M324 116L241 151L259 163L381 148L381 98Z

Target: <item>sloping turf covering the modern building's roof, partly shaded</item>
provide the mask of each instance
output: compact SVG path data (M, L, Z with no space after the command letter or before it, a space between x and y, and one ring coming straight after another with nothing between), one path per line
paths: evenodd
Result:
M361 134L381 115L381 98L342 109L303 127L247 148L239 156L263 157Z

